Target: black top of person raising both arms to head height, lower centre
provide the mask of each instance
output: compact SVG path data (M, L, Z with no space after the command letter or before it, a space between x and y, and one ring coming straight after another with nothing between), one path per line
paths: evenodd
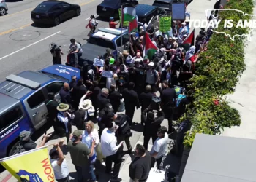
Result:
M158 111L157 118L154 120L148 119L146 114L148 114L148 108L146 108L142 113L142 119L145 123L143 135L145 134L156 134L159 127L161 127L162 121L165 119L165 114L163 111Z

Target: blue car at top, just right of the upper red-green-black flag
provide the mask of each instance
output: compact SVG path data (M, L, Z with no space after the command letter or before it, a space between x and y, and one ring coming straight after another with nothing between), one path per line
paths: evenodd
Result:
M154 22L157 20L157 16L165 16L167 12L164 9L160 9L159 7L154 7L148 4L138 4L135 7L136 15L138 16L138 21L140 23L148 23L153 17L151 24L154 25Z

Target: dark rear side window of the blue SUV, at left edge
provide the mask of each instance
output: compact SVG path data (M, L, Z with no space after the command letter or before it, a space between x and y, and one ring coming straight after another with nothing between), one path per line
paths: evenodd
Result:
M23 113L19 106L16 106L15 108L12 108L10 111L7 111L7 113L0 116L0 131L9 127L12 123L16 122L22 116Z

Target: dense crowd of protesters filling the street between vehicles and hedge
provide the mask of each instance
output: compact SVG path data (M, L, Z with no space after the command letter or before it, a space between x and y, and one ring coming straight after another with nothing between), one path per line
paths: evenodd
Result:
M98 165L105 165L105 173L111 175L112 181L121 181L118 174L126 154L123 145L126 144L126 152L131 154L129 139L135 124L143 126L144 143L135 146L136 158L129 167L131 180L146 181L155 162L160 168L168 134L175 130L173 120L184 114L189 103L184 87L195 73L200 53L207 50L211 38L211 30L201 29L195 45L184 44L189 36L189 12L186 15L184 22L173 21L168 33L161 33L157 25L139 27L137 34L130 35L129 45L118 59L107 49L104 55L95 58L95 69L87 70L83 79L72 76L72 82L64 83L59 92L61 100L55 100L53 93L48 94L49 100L45 102L48 120L57 135L67 138L67 150L78 181L86 181L87 173L91 181L97 181ZM217 18L217 13L212 12L210 18ZM111 22L113 25L112 19ZM146 33L158 48L152 58L143 55ZM139 108L140 121L135 123L135 110ZM122 111L125 112L121 114ZM161 126L164 119L168 128ZM96 123L99 130L94 126ZM78 130L72 132L72 125ZM29 151L45 145L49 135L44 136L40 145L31 141L29 131L20 132L20 138L24 149ZM154 144L147 151L151 138ZM60 149L62 144L63 141L55 143L50 158L56 180L69 181L69 169Z

